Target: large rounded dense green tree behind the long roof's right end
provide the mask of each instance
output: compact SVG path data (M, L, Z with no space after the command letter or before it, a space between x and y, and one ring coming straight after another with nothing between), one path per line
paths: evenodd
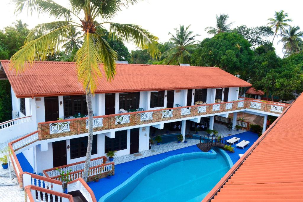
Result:
M251 44L243 36L220 33L205 38L191 56L194 66L220 67L233 75L241 75L249 68L253 51Z

